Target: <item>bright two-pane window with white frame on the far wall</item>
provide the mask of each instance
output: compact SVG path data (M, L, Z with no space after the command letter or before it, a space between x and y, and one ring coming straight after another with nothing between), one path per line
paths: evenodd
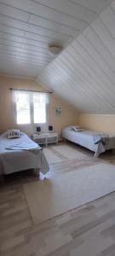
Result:
M14 117L17 125L46 123L47 96L44 93L14 90Z

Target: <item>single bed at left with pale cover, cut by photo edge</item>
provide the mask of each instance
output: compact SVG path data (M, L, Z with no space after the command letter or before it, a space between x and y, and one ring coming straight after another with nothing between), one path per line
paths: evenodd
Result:
M34 143L24 132L19 138L9 139L7 132L0 135L0 174L36 169L49 172L48 162L42 148Z

